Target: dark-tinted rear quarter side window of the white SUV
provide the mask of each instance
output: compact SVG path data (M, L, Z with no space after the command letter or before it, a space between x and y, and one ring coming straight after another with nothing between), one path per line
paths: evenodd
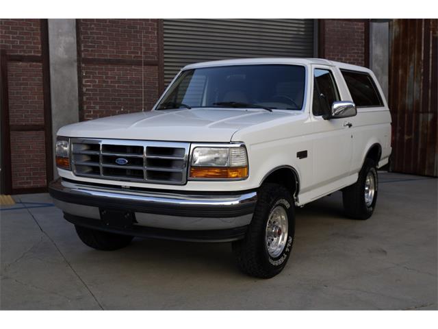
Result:
M383 106L381 95L371 75L364 72L341 70L352 101L358 108Z

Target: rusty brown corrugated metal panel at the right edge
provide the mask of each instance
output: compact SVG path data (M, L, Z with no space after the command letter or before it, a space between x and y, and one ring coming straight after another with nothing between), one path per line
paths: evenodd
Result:
M438 176L438 19L391 21L391 171Z

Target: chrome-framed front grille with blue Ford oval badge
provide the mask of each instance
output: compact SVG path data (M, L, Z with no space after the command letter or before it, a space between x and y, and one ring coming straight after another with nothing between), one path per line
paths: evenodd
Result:
M189 143L70 138L77 176L185 184Z

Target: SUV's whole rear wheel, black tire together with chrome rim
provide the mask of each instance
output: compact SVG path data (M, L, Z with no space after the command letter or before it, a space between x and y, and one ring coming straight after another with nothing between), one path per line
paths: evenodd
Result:
M359 178L342 191L344 210L353 219L368 219L376 207L378 176L376 163L367 158Z

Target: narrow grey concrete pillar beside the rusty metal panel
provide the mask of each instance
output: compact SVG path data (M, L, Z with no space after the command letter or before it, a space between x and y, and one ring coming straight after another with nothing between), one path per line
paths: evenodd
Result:
M370 23L370 69L376 75L388 99L389 20L387 19L376 19Z

